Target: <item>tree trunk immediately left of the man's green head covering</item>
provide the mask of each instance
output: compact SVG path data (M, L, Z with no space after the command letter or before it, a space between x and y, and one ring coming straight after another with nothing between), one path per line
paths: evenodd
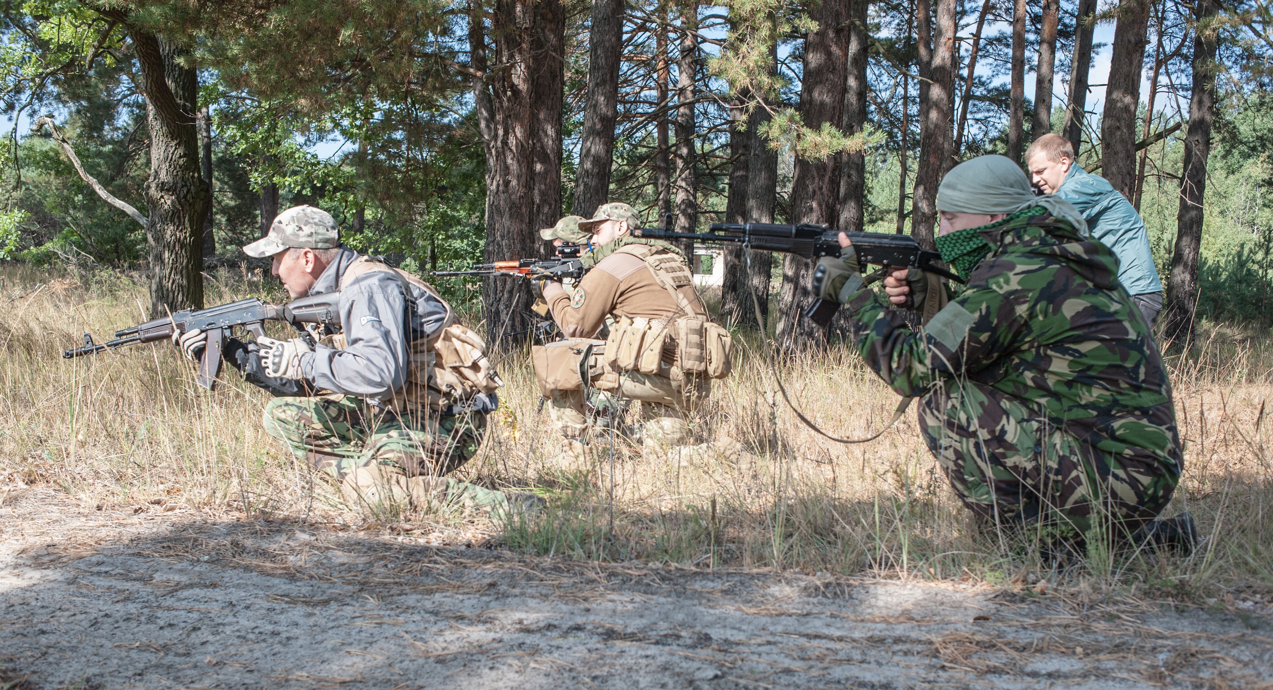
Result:
M915 194L911 199L910 234L923 247L933 247L937 224L937 183L955 165L951 155L951 127L955 120L955 0L937 0L933 32L933 83L928 85L927 107L919 112L919 160L915 167Z

